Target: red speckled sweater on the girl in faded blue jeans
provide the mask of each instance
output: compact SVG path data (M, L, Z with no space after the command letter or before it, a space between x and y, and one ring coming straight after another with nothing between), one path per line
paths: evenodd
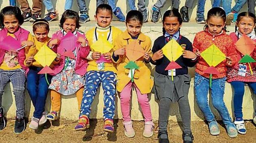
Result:
M234 48L234 42L230 36L223 32L220 35L214 36L209 32L198 32L195 35L193 42L193 51L199 50L200 52L206 50L212 44L215 44L227 57L232 60L232 66L237 62L236 49ZM202 57L197 59L197 64L195 65L195 72L198 74L209 78L210 74L204 74L204 70L210 67ZM213 79L226 77L227 71L226 59L223 60L215 68L219 71L219 74L213 74Z

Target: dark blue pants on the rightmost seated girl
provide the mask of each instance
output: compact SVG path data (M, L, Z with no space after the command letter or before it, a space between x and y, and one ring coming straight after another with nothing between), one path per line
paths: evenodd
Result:
M254 95L256 95L256 82L233 81L230 84L234 89L234 115L236 118L243 118L242 104L245 84L252 88Z

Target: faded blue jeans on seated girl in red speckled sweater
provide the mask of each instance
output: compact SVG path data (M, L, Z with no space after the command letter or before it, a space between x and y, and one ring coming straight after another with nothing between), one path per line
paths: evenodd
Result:
M225 78L218 78L212 80L212 86L209 87L209 78L205 78L198 73L195 73L194 78L194 90L197 105L200 107L204 114L204 118L211 122L215 120L212 111L210 110L208 103L208 91L210 89L210 97L213 101L213 106L219 112L223 123L225 125L231 124L232 120L228 113L228 109L223 101L223 95L225 90Z

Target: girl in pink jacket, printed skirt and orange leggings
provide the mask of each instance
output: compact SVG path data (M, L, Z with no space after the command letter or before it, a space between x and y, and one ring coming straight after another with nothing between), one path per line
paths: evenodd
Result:
M49 86L49 89L51 89L52 111L46 117L48 120L56 120L58 118L61 108L61 95L67 96L76 93L78 109L80 110L85 83L84 75L87 71L87 60L85 58L89 54L89 46L85 35L78 32L80 27L78 13L72 10L65 11L61 17L60 27L62 30L53 34L48 43L49 47L56 46L57 53L61 54L59 63L53 68L54 76ZM75 59L63 56L65 50L59 46L61 38L67 32L72 32L77 37L77 41L74 42L80 43L73 50Z

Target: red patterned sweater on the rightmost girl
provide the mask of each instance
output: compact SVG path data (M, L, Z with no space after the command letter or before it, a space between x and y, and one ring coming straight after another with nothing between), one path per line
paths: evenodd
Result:
M233 32L230 34L231 38L233 39L234 43L238 40L236 34ZM256 42L256 39L254 39ZM243 55L237 51L237 59L240 61L243 57ZM253 59L256 59L256 48L250 55ZM246 63L247 68L246 68L246 74L245 76L239 76L238 75L238 69L239 69L239 63L236 62L234 67L229 67L227 71L227 81L232 82L232 81L241 81L241 82L256 82L256 63L250 63L252 67L253 74L251 74L251 71L249 69L248 63Z

